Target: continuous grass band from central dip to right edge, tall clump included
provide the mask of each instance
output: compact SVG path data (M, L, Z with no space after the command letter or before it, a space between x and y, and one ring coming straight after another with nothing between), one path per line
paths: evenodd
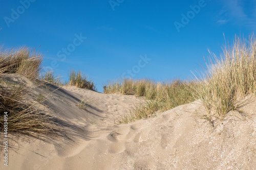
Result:
M244 116L241 107L245 103L242 99L255 93L255 90L256 41L252 35L249 41L236 36L233 46L224 47L220 57L211 54L201 78L171 83L149 79L120 79L109 82L104 93L134 94L145 98L145 104L135 106L131 115L121 118L120 123L150 117L158 111L166 111L200 99L207 112L197 113L198 116L214 126L217 119L223 120L231 110Z

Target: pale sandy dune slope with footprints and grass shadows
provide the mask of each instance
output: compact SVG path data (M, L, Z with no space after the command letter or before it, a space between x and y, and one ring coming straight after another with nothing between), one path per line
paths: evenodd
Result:
M157 117L117 126L114 120L129 113L129 108L141 100L134 96L102 94L76 87L58 89L48 85L34 87L33 90L31 96L38 92L50 96L45 109L51 114L70 120L71 124L91 133L88 133L88 138L76 138L76 142L58 141L58 145L19 138L13 142L19 145L19 149L9 152L9 166L6 168L2 163L0 167L3 169L256 167L254 95L243 108L250 115L246 120L241 120L237 112L230 112L224 122L216 123L215 129L212 129L208 122L194 114L204 112L199 101L179 106ZM86 111L76 106L83 96L89 99Z

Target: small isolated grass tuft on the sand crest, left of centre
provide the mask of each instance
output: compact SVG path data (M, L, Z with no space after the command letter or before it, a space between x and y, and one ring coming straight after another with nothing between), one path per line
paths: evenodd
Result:
M92 80L88 80L88 78L84 76L80 70L76 72L75 70L71 69L69 71L69 85L95 90L95 85Z

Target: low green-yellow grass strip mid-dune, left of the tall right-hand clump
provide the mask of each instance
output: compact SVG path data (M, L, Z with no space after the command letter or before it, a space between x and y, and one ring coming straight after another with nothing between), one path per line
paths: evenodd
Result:
M144 117L152 117L179 105L193 102L196 82L174 80L172 82L155 82L150 79L123 79L111 82L106 86L105 93L134 94L142 96L145 102L135 106L130 115L119 120L119 123L134 122Z

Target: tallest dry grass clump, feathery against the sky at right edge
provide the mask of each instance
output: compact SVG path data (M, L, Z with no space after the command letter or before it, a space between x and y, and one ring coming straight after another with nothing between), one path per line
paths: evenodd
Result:
M242 98L255 93L256 87L256 41L249 37L249 43L236 36L233 46L223 48L223 55L212 55L208 70L203 74L197 96L207 109L201 116L214 122L224 119L231 110L240 110Z

